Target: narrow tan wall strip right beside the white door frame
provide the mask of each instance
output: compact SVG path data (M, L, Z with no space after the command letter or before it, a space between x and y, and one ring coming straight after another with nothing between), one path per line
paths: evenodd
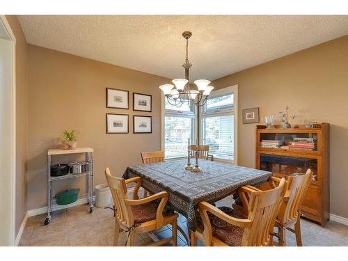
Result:
M28 146L28 44L16 15L6 15L16 38L16 235L26 214Z

